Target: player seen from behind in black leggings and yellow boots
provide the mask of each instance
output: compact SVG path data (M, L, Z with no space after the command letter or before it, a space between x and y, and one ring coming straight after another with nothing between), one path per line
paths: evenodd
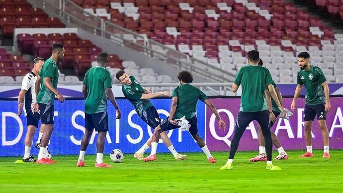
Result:
M261 130L264 136L264 143L267 154L267 167L266 169L280 169L274 167L271 162L271 134L269 127L269 110L264 96L265 87L271 97L275 100L278 108L285 115L285 110L281 106L277 95L273 87L273 80L269 73L269 70L258 66L259 53L256 50L248 52L248 66L242 67L234 80L232 85L232 91L237 92L239 86L242 84L242 96L241 96L241 107L238 112L235 135L231 142L230 155L227 163L220 168L220 170L231 170L233 169L233 159L235 157L240 139L247 128L247 126L253 120L257 120L261 126Z

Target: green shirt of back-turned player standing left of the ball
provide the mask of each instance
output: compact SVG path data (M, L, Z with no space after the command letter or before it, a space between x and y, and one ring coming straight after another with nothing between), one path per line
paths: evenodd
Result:
M100 66L90 68L86 72L84 85L87 86L85 112L87 114L107 112L105 89L112 88L112 79L108 70Z

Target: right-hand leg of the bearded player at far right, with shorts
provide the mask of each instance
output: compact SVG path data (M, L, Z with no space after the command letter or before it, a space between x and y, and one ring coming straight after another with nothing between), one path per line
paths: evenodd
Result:
M326 111L323 104L315 105L316 114L318 119L318 125L322 132L323 144L324 144L324 153L323 158L330 158L329 154L329 130L326 124Z

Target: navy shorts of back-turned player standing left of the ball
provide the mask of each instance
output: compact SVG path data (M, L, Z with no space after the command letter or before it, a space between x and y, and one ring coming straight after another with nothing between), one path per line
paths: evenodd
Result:
M86 114L86 129L92 131L95 128L97 132L108 131L108 115L107 112L98 112L94 114Z

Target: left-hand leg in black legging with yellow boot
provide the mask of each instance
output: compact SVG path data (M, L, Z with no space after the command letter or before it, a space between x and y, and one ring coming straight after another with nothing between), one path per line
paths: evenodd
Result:
M240 143L241 137L250 124L254 120L254 115L251 112L239 111L235 125L235 134L231 142L229 159L224 166L219 170L231 170L233 168L233 161Z

